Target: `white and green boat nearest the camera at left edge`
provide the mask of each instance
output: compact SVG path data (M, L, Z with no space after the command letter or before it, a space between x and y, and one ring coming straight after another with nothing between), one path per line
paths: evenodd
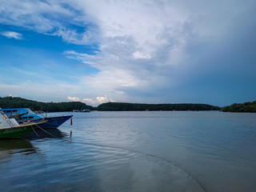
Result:
M29 122L18 124L15 118L8 118L0 108L0 138L22 138L24 135L29 134L32 130L42 126L41 122Z

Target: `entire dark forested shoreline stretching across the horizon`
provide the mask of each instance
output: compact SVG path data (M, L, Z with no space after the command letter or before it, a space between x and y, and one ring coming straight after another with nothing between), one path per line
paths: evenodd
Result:
M256 112L255 102L234 103L230 106L211 106L207 104L142 104L128 102L107 102L98 107L88 106L83 102L35 102L26 98L0 97L0 107L30 108L45 112L61 112L72 110L100 110L100 111L132 111L132 110L222 110L223 112Z

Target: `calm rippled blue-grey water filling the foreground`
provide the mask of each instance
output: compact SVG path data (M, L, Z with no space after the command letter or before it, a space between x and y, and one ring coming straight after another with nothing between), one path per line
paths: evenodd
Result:
M0 141L1 191L256 191L256 114L74 113L49 131Z

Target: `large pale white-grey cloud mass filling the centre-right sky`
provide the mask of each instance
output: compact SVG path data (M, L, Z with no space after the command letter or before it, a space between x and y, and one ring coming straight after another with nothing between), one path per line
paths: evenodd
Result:
M92 56L73 51L66 56L100 70L83 77L86 86L127 94L154 94L218 73L221 58L214 64L208 58L226 51L222 45L230 43L227 37L235 38L232 29L241 25L237 19L243 21L251 11L233 1L221 2L221 8L220 2L199 0L77 3L101 30L100 52Z

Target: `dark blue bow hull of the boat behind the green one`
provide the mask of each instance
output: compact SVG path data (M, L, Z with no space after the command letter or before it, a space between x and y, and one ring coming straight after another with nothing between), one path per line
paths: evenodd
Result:
M66 115L66 116L58 116L58 117L49 117L45 118L48 122L42 124L40 127L42 129L55 129L58 126L61 126L64 122L69 120L73 115Z

